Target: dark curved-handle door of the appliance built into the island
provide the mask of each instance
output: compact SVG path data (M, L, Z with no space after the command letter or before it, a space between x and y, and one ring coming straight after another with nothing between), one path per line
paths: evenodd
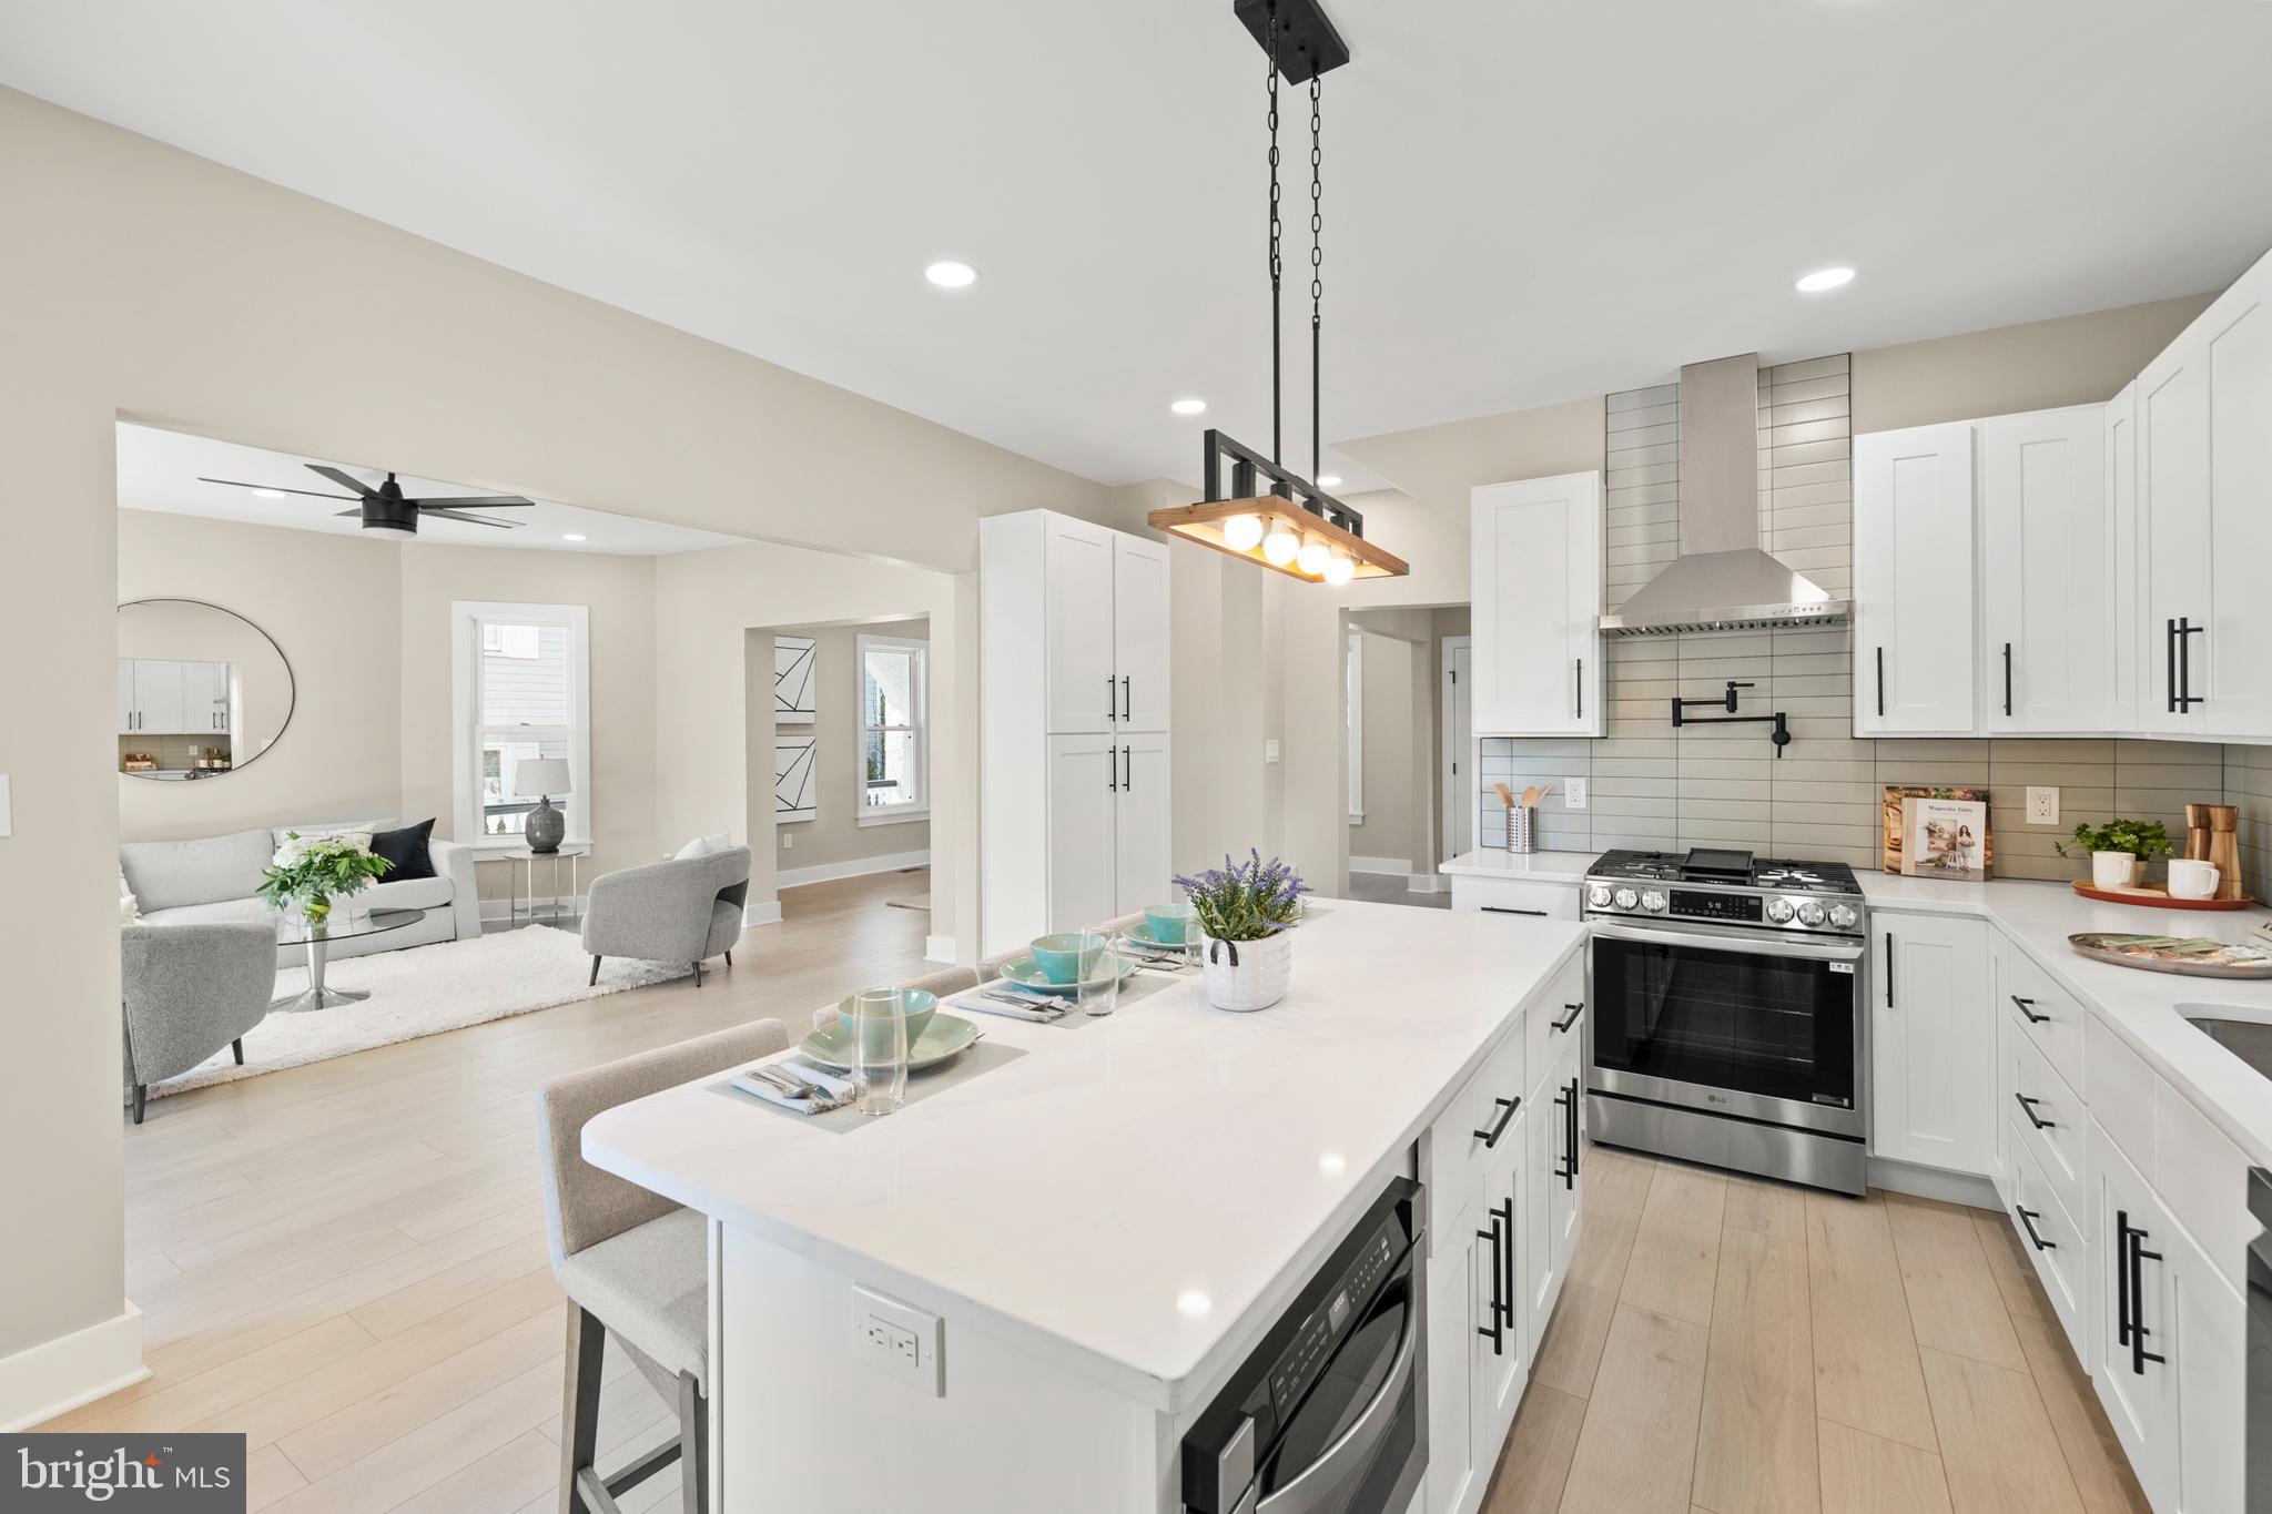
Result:
M1279 1432L1241 1514L1404 1514L1427 1471L1420 1246Z

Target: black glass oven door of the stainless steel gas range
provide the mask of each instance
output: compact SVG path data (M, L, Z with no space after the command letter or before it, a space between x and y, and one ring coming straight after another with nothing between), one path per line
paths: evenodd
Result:
M1868 1135L1863 947L1593 926L1590 1087Z

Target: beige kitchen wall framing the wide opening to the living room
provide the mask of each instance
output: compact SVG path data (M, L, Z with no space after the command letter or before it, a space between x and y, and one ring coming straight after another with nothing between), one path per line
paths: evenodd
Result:
M947 572L975 565L979 515L1095 518L1106 490L16 91L0 91L0 204L39 227L0 241L0 642L43 649L0 672L0 708L39 710L0 724L16 799L0 919L39 942L11 953L0 1006L0 1149L45 1153L9 1167L5 1357L116 1317L125 1294L120 415L736 536L888 542ZM718 676L657 690L663 724L666 695L732 704L738 751L741 631L811 617L734 624ZM738 813L738 767L729 788L716 808ZM704 779L679 810L711 794Z

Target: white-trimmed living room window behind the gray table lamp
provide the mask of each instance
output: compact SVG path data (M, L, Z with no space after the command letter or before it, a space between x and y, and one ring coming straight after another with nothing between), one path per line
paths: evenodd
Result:
M568 790L543 797L570 840L591 840L591 611L454 602L450 613L457 838L516 844L538 801L520 763L566 758Z

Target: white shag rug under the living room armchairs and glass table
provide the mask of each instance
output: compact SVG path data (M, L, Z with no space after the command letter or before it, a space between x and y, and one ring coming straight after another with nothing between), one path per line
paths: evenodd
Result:
M257 1078L307 1062L325 1062L373 1046L414 1042L491 1019L550 1010L579 999L620 994L688 976L684 965L609 958L600 983L591 985L591 956L573 931L523 926L470 942L434 942L404 951L327 962L325 987L368 992L370 999L329 1010L275 1010L245 1031L245 1065L223 1046L202 1065L168 1083L152 1083L150 1096L184 1094L207 1083ZM307 990L307 967L277 972L277 999Z

